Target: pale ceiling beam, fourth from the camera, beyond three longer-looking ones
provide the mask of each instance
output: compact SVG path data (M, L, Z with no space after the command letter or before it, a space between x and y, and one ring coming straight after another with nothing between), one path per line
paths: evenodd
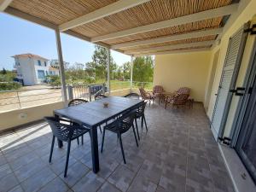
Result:
M147 53L147 52L158 51L158 50L170 50L170 49L181 49L181 48L187 48L187 47L210 46L214 43L215 43L215 40L201 41L201 42L195 42L195 43L189 43L189 44L171 44L171 45L166 45L166 46L151 47L151 48L144 48L144 49L131 49L131 50L125 51L125 54L141 54L141 53Z

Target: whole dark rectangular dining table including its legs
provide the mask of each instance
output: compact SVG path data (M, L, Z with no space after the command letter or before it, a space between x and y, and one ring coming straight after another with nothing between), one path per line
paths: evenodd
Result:
M103 108L103 102L108 102L108 108ZM93 172L96 173L100 169L97 127L127 110L137 108L142 102L142 100L137 99L111 96L95 102L87 102L73 107L57 109L54 111L54 114L56 118L67 118L79 125L90 128L92 168ZM61 148L62 142L58 141L58 144L59 148Z

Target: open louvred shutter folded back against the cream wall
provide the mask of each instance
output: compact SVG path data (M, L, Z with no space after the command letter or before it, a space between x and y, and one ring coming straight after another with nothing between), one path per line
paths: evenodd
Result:
M216 140L222 137L225 121L227 119L230 102L236 86L236 79L239 72L241 58L245 43L247 40L247 32L244 32L249 27L249 23L241 27L231 38L227 49L227 54L224 61L224 68L218 86L218 93L214 110L212 113L211 129Z

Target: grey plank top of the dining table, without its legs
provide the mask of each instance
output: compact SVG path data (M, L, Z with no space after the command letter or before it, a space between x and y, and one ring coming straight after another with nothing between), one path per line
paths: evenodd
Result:
M103 103L108 102L108 108ZM54 113L60 117L70 119L80 125L92 127L113 119L128 109L137 108L143 100L119 96L109 96L95 102L86 102L77 106L56 109Z

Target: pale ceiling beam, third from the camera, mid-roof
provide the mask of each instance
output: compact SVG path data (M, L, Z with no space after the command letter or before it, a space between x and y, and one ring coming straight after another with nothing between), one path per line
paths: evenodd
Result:
M122 44L114 44L111 46L111 49L136 47L136 46L145 45L145 44L161 44L165 42L183 40L188 38L201 38L209 35L221 34L222 30L223 30L222 28L208 29L208 30L201 30L196 32L183 33L179 35L172 35L172 36L163 37L163 38L152 38L148 40L139 40L139 41L133 41L128 43L122 43Z

